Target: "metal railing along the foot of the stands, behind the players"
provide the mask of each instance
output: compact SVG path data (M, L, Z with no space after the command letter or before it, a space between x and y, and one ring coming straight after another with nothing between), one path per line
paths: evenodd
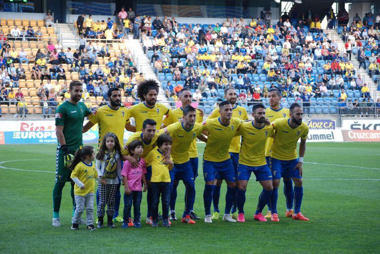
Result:
M102 95L98 97L103 99ZM40 106L41 101L24 101L27 105L18 106L18 101L1 101L0 107L0 115L4 117L21 117L25 118L28 116L52 116L55 115L56 109L58 108L58 101L44 101L48 104L47 107ZM105 101L83 101L85 104L88 103L88 107L91 110L95 110L100 107L101 103L108 103L107 99ZM212 110L217 107L217 105L221 101L193 101L198 108L202 108L205 115L209 115ZM126 106L131 106L139 103L139 101L123 101ZM170 108L175 109L180 102L176 102L173 100L169 101L160 101L160 103L164 103L169 105ZM258 103L264 104L266 107L269 107L267 101L238 101L237 104L243 106L247 109L248 112L252 112L252 106ZM293 102L282 102L281 105L283 107L288 108L290 104ZM341 119L342 117L352 117L352 118L360 118L360 117L372 117L379 118L380 117L380 102L363 102L358 101L357 106L353 106L348 102L319 102L319 101L311 101L309 103L303 103L302 101L298 101L298 103L303 106L304 115L308 117L335 117L337 119ZM355 102L356 103L356 102ZM354 103L354 104L355 104Z

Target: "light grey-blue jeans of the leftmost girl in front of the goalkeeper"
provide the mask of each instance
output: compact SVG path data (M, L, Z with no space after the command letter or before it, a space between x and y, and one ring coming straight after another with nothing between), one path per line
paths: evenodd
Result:
M73 217L73 224L79 224L80 216L86 207L86 224L94 224L94 193L85 196L75 195L76 210Z

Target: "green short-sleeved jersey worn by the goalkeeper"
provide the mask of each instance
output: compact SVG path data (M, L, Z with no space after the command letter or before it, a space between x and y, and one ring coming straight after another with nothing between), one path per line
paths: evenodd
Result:
M91 115L83 102L73 104L68 100L62 103L55 114L55 125L63 126L63 135L70 151L76 151L82 145L82 128L84 117ZM59 142L58 142L58 145Z

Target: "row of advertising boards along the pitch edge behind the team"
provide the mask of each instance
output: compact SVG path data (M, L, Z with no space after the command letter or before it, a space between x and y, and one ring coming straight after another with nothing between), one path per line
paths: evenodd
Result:
M54 120L1 121L0 144L57 144ZM342 127L337 120L309 119L304 123L309 127L307 142L380 142L380 120L343 119ZM132 134L124 130L124 143ZM97 143L98 125L83 133L84 143Z

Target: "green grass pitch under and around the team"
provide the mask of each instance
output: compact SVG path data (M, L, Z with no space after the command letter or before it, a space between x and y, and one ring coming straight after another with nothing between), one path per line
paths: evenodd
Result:
M196 180L195 225L173 222L171 228L103 228L73 232L69 184L63 191L60 228L51 225L55 145L0 146L1 253L376 253L380 236L379 143L308 143L304 164L303 214L309 222L285 218L281 183L280 222L253 220L261 191L254 177L248 184L246 222L203 222L203 177ZM199 144L202 161L203 144ZM310 163L312 162L312 163ZM43 171L43 172L38 172ZM224 210L226 185L220 208ZM184 186L178 189L177 215L184 207ZM120 205L122 214L123 202ZM96 210L96 209L95 209ZM266 213L266 209L264 210Z

